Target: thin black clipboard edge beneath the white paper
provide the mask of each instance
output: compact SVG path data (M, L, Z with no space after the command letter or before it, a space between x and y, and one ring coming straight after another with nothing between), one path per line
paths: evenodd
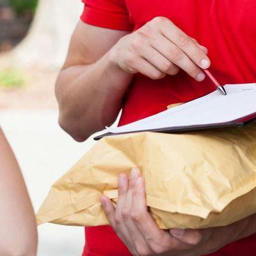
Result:
M134 132L106 132L104 134L100 134L93 138L93 140L100 140L106 136L116 136L121 134L135 133L135 132L162 132L162 133L176 133L176 132L187 132L187 131L200 131L207 129L218 129L218 128L226 128L226 127L241 127L244 126L253 120L256 120L256 113L253 113L248 116L244 116L243 118L239 118L232 122L220 123L220 124L206 124L206 125L191 125L191 126L183 126L183 127L166 127L162 129L152 129L152 130L144 130L144 131L134 131Z

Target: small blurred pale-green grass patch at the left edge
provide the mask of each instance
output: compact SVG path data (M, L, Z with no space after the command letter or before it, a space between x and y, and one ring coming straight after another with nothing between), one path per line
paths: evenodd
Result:
M0 88L19 88L25 84L25 78L17 69L0 71Z

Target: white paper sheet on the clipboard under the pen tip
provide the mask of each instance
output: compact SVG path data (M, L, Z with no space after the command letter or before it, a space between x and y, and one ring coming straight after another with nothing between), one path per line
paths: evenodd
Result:
M157 115L128 125L106 127L106 131L150 131L166 127L219 124L237 120L256 112L256 83L226 84L227 95L219 91L192 100Z

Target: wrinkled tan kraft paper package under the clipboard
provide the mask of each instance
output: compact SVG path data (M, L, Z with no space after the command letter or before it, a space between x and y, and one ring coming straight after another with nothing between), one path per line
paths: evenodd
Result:
M224 226L256 212L256 122L182 134L138 132L100 140L51 188L38 225L107 225L118 173L140 168L160 228Z

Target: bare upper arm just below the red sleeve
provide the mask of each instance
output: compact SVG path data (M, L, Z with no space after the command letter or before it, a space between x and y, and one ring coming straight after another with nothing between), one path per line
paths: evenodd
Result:
M129 31L100 28L79 21L72 35L63 69L99 60Z

